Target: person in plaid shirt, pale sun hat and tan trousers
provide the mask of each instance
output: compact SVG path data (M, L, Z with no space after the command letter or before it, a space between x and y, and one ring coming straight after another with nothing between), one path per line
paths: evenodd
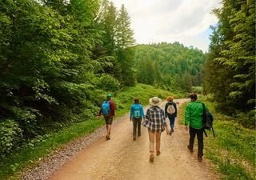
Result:
M145 121L142 122L142 125L146 126L148 129L150 139L150 162L154 162L154 140L156 141L156 155L160 155L162 131L166 130L166 134L169 132L166 124L166 116L164 114L164 110L159 107L160 104L160 98L150 98L150 108L146 110Z

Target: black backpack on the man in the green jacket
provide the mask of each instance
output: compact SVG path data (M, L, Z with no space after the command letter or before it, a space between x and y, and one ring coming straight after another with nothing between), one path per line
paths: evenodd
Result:
M206 110L206 106L204 103L202 103L202 120L203 120L203 132L206 134L206 130L212 130L213 131L213 135L215 137L214 134L214 116L212 114L210 114L209 110ZM207 134L206 134L206 137Z

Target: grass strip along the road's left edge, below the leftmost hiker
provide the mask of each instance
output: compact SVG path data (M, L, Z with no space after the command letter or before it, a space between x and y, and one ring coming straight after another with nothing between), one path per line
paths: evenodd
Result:
M37 166L43 158L54 154L67 142L90 134L103 124L104 122L100 120L79 122L58 133L41 137L33 146L31 144L30 146L20 147L10 157L2 159L2 162L0 162L0 179L20 179L22 170Z

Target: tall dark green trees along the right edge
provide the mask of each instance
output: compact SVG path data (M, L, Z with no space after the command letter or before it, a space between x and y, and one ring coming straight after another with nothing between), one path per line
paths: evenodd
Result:
M222 113L240 116L244 126L254 126L255 1L224 0L214 14L218 26L212 27L206 54L205 91L213 94Z

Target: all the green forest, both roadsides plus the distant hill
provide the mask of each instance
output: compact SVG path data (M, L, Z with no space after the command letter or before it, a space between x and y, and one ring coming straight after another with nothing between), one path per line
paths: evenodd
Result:
M107 92L138 82L182 92L204 83L220 110L252 114L254 6L224 1L204 54L178 42L135 46L125 6L108 0L0 1L1 156L94 118Z

